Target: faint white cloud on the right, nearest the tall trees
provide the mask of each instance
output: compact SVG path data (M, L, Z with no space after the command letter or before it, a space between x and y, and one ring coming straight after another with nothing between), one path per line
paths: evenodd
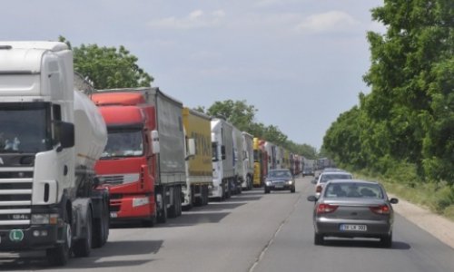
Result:
M359 24L359 21L347 13L330 11L306 17L302 23L297 24L296 30L309 33L341 32Z

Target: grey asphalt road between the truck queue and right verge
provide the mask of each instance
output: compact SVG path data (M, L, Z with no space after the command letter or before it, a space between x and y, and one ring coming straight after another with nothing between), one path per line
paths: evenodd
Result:
M118 226L91 257L49 267L42 252L0 253L2 271L454 271L454 250L396 215L392 248L374 239L313 245L311 178L297 192L262 189L183 212L155 228ZM399 204L397 204L399 205ZM453 230L454 231L454 230Z

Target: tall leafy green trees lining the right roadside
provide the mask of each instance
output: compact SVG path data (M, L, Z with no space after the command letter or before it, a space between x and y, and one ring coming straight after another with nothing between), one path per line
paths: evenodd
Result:
M371 64L364 81L371 92L331 125L323 148L381 172L410 163L419 177L452 184L454 4L385 0L372 17L387 32L368 33Z

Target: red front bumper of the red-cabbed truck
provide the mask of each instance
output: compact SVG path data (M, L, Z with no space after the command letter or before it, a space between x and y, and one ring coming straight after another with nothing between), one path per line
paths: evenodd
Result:
M154 196L133 195L110 199L111 220L150 219L155 213Z

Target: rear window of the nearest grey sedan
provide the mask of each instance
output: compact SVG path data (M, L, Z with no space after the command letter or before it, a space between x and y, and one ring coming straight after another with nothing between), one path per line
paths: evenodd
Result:
M383 199L383 191L378 184L369 183L330 183L325 190L325 198L367 198Z

